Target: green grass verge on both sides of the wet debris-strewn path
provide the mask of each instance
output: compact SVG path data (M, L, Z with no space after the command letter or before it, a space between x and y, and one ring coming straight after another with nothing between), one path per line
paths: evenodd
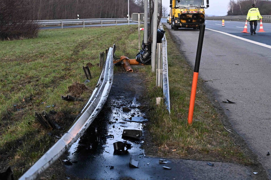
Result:
M125 27L125 28L124 28ZM142 36L143 37L143 32ZM0 43L0 160L1 169L12 166L15 179L65 133L91 95L101 69L99 53L117 46L116 57L135 58L138 50L137 25L98 28L41 30L35 39L1 41ZM157 155L200 160L249 163L234 139L225 131L221 116L215 111L199 79L193 124L187 124L192 70L172 42L169 32L168 64L171 114L164 106L156 107L155 97L162 96L155 85L155 74L145 66L146 87L150 107L147 125ZM88 90L72 94L69 87L83 84L86 77L82 66L87 63L93 79ZM67 94L83 101L67 102ZM54 107L46 108L48 105ZM62 127L44 130L34 113L46 110ZM56 114L53 113L56 112ZM176 151L172 151L175 150Z

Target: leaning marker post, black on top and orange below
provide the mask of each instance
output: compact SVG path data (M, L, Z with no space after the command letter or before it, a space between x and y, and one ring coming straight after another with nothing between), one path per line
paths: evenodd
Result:
M199 28L199 41L197 44L197 54L196 54L195 68L194 68L193 81L192 81L190 105L189 105L189 111L188 111L188 124L190 125L192 124L192 120L193 120L194 104L195 104L196 89L197 89L197 79L199 76L199 63L200 63L200 57L201 57L204 31L205 31L205 24L202 24L200 25L200 28Z

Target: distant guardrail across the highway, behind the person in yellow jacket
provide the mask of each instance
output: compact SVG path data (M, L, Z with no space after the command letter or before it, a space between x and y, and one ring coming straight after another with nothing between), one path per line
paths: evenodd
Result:
M205 16L206 20L246 21L246 16ZM271 23L271 16L262 16L262 22Z

